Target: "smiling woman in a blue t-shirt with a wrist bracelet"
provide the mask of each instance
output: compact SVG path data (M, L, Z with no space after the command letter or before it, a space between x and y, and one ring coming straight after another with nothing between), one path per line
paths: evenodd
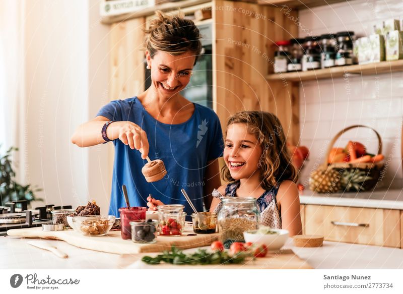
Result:
M119 216L118 209L126 206L121 185L127 187L131 206L146 206L152 194L165 204L185 205L189 214L192 210L180 193L184 188L203 211L221 185L218 158L224 144L217 114L179 93L189 83L201 49L199 31L190 20L158 11L146 30L145 46L151 86L102 107L95 119L77 129L72 142L87 147L113 141L110 214ZM141 169L147 156L164 161L168 173L163 180L146 182Z

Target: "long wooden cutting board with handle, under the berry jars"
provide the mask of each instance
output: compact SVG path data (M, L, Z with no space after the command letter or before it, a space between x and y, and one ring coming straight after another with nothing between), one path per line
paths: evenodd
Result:
M7 231L9 236L62 240L80 248L115 254L161 252L170 250L172 246L180 249L209 246L218 238L218 233L186 236L189 233L193 233L193 229L190 226L185 226L180 237L158 236L157 242L154 244L140 244L133 243L131 240L121 239L120 231L110 231L105 236L84 236L72 229L42 231L41 227L10 229Z

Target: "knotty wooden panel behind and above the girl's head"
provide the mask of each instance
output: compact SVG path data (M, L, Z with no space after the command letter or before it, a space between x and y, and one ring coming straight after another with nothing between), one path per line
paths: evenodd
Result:
M213 20L215 110L223 129L229 115L242 110L275 113L291 143L299 141L298 84L268 83L275 42L297 36L297 26L279 8L216 0ZM297 17L297 12L290 15Z

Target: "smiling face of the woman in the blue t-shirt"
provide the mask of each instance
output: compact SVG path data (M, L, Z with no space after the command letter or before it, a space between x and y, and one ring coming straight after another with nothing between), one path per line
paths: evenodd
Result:
M173 56L164 51L157 51L151 58L147 51L146 58L151 68L151 87L160 97L171 98L189 83L195 60L194 53L186 52Z

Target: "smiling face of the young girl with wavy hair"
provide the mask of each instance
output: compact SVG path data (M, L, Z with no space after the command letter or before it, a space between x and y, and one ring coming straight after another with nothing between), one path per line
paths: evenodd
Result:
M258 170L261 154L256 136L248 132L245 124L228 127L224 160L234 180L250 178Z

